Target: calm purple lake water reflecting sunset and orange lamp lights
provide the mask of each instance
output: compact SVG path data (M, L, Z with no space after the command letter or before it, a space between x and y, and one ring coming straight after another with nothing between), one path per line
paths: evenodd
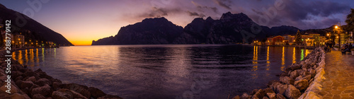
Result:
M265 88L310 50L242 45L74 46L13 52L63 83L122 98L230 98Z

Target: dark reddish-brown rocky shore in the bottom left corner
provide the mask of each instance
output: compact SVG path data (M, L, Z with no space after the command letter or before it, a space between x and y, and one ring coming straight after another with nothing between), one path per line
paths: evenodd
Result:
M13 59L11 59L11 74L9 75L11 78L8 80L8 74L6 74L7 63L4 61L6 60L4 52L0 52L0 59L0 98L121 99L116 95L108 95L98 88L76 83L62 83L59 79L48 76L41 69L35 71L27 69ZM6 82L6 80L8 81ZM11 86L8 86L8 82L11 83ZM6 92L8 88L11 89L9 91L10 93Z

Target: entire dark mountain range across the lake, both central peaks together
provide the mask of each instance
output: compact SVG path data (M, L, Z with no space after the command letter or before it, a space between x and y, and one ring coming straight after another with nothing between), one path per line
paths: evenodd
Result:
M118 35L93 41L92 45L232 44L263 40L271 35L295 34L299 28L268 28L254 23L244 13L222 14L219 20L195 18L181 28L166 18L147 18L120 28Z

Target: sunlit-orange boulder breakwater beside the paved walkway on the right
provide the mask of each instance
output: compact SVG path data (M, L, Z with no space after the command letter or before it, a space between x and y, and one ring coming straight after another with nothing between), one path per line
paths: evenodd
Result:
M326 53L317 47L301 62L292 64L278 75L279 80L270 81L264 89L254 89L251 93L235 96L233 99L303 99L319 98L321 82L324 79Z

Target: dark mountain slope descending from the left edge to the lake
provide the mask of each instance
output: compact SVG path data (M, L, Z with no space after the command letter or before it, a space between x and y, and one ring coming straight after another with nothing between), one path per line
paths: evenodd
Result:
M45 39L46 41L55 42L59 45L72 45L64 36L56 33L50 28L45 27L41 23L29 18L28 16L6 8L0 4L0 18L3 20L11 20L11 28L18 28L21 30L30 30L38 38Z

